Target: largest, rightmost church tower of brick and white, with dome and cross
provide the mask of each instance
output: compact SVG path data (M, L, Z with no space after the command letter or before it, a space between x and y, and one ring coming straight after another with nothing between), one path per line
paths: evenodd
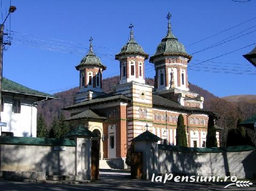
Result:
M171 14L168 13L167 34L158 44L155 55L149 59L155 65L155 90L163 91L171 88L189 91L187 80L187 64L192 56L172 34Z

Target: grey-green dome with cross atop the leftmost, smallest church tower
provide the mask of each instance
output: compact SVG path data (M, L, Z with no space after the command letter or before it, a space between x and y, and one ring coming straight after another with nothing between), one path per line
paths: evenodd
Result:
M82 66L96 66L106 70L106 66L103 65L100 58L97 57L93 52L92 37L90 39L90 49L87 55L81 60L80 64L76 66L76 70L79 70Z

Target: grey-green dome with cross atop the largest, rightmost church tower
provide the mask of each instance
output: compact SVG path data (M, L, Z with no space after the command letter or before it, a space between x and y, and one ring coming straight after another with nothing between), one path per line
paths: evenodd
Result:
M171 14L168 13L166 18L168 19L167 34L158 44L156 53L150 57L149 62L153 62L153 59L162 56L183 56L187 58L188 61L191 60L192 56L187 54L184 45L172 34L170 22Z

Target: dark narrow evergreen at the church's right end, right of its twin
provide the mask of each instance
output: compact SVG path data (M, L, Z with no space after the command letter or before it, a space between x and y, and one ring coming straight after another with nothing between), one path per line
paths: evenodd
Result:
M214 117L209 115L207 135L206 135L206 147L217 147L216 129L214 127Z

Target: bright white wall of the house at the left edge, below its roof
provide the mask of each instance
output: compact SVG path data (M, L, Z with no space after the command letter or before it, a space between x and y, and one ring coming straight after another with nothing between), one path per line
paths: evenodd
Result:
M33 106L36 100L24 97L4 97L4 111L1 112L1 121L7 123L2 127L2 132L13 132L14 136L33 136L36 137L36 106ZM12 112L12 98L20 100L20 113ZM31 112L32 111L32 112ZM32 126L31 126L32 124Z

